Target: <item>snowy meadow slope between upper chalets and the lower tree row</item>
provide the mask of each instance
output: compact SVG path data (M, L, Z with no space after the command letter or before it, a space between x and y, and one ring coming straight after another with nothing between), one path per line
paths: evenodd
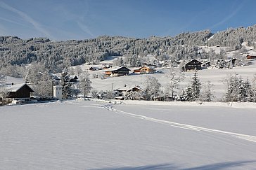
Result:
M165 90L168 79L166 77L167 69L164 69L163 73L153 73L148 75L131 75L131 76L122 76L122 77L111 77L106 79L101 78L91 78L91 86L98 90L115 90L120 87L124 87L124 85L143 85L146 80L146 76L153 76L158 78L159 82L162 85L162 90ZM104 73L103 71L89 71L92 75L94 73ZM226 92L226 86L223 82L224 78L226 78L229 74L237 73L244 80L248 78L248 80L252 80L253 76L256 74L256 61L252 61L252 65L250 66L239 66L234 67L233 69L203 69L198 70L198 78L201 83L206 83L208 80L214 85L213 90L215 92L215 100L218 101L222 99L224 93ZM180 90L183 90L187 87L188 83L191 81L191 77L193 76L193 71L185 72L186 78L180 83Z

